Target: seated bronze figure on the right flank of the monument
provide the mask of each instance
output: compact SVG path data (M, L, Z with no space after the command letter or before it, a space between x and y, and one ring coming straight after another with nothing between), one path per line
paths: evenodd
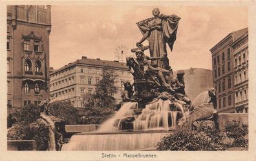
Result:
M175 90L175 98L191 104L191 100L185 93L184 71L178 71L177 77L171 80L171 88Z

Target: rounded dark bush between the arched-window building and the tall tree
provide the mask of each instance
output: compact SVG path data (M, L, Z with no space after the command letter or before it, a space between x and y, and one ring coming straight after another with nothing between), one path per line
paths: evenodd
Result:
M66 124L78 124L78 111L70 101L56 101L48 105L48 112L66 121Z

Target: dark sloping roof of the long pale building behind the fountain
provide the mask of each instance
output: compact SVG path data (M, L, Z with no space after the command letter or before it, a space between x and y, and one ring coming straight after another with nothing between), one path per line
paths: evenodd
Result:
M123 70L128 70L126 63L125 62L118 62L118 61L105 61L105 60L100 60L100 59L89 59L87 57L82 57L82 59L78 59L77 61L71 62L58 70L53 71L50 73L50 75L54 73L58 73L58 71L65 70L69 68L70 66L75 66L75 65L84 65L84 66L95 66L95 67L108 67L108 68L119 68Z

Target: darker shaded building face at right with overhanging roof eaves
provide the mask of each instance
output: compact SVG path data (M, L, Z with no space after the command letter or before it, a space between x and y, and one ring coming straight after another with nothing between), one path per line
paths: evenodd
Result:
M212 55L213 87L217 89L217 110L220 113L235 112L234 59L231 44L248 28L229 33L210 52Z

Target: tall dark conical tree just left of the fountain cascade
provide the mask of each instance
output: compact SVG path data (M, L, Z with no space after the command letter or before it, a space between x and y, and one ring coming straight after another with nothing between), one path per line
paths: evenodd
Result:
M114 113L116 103L112 96L117 91L114 83L118 75L113 70L104 68L101 77L94 95L83 96L85 115L80 119L81 124L101 124Z

